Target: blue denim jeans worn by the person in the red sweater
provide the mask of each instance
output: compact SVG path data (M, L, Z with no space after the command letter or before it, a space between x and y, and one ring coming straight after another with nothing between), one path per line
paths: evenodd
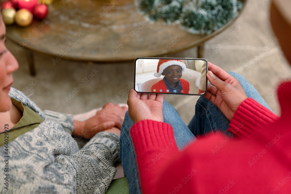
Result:
M255 90L255 88L247 82L242 75L234 72L228 73L240 82L247 97L254 99L271 110L257 90ZM203 96L201 96L196 102L195 116L190 121L188 127L175 108L165 100L163 104L163 115L164 122L173 127L174 138L179 150L186 147L190 142L195 141L195 136L198 135L207 135L212 134L214 131L221 131L230 137L232 136L232 134L227 132L230 121L223 115L217 106ZM134 122L131 120L127 112L121 127L119 157L122 161L125 176L127 177L129 193L139 194L141 193L139 170L136 163L134 145L129 133L133 124Z

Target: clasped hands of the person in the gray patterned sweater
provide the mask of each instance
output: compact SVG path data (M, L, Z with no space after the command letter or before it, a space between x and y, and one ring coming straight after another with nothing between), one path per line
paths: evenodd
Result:
M121 125L124 120L127 107L120 107L116 104L108 103L97 111L96 115L85 120L74 120L74 131L72 135L91 139L100 131L109 131L120 135Z

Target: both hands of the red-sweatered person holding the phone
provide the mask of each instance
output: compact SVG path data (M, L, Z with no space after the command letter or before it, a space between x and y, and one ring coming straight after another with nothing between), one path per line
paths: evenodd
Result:
M207 93L205 98L215 104L231 120L239 105L247 99L239 81L220 67L208 62ZM163 122L163 94L139 94L133 89L128 95L128 113L134 123L141 120Z

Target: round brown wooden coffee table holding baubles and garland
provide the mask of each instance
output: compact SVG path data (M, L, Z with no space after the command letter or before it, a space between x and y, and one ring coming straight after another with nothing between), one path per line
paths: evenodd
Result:
M13 24L6 31L18 44L16 50L28 49L30 73L35 75L34 53L53 56L53 64L62 59L116 62L198 46L198 58L203 58L203 43L235 19L210 35L193 35L179 25L149 23L134 0L56 0L43 21L24 28Z

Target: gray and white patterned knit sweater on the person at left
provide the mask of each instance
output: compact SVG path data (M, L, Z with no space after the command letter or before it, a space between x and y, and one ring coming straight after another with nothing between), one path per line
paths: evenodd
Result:
M9 95L29 106L45 121L9 141L8 154L4 146L0 147L0 193L105 193L116 173L114 167L120 162L119 137L100 132L79 149L71 136L72 115L42 113L14 88ZM64 127L69 130L66 132ZM5 169L7 159L9 167ZM5 189L6 174L8 190Z

